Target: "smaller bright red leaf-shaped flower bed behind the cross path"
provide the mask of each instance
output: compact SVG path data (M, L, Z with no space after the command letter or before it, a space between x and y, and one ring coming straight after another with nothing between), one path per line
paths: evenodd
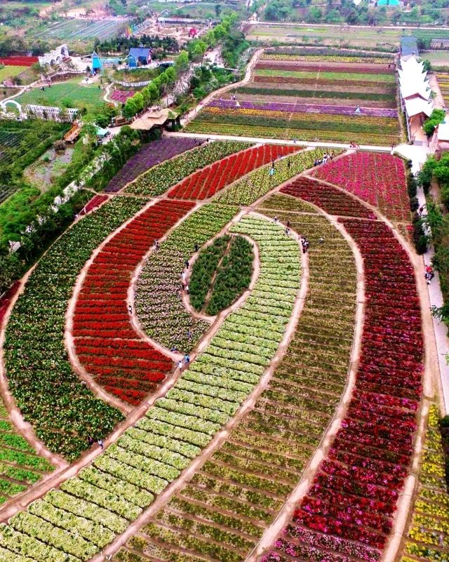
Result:
M168 192L168 196L178 199L208 199L216 192L238 180L243 175L264 166L280 156L301 150L300 147L282 145L262 145L250 148L218 162L206 166L189 175Z

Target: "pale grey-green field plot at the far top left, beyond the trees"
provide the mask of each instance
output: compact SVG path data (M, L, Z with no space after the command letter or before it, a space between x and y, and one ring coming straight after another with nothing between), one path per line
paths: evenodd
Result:
M117 18L105 18L91 22L86 20L67 20L48 25L43 31L34 34L38 39L110 39L119 33L126 25L126 20Z

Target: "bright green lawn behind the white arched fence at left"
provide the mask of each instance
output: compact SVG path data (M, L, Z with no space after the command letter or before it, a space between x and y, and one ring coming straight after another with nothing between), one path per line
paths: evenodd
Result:
M70 107L86 107L91 110L100 107L104 100L102 91L98 89L98 84L80 84L81 78L74 78L67 82L56 83L51 88L41 91L33 88L15 98L22 105L53 105L60 107L62 100L70 100Z

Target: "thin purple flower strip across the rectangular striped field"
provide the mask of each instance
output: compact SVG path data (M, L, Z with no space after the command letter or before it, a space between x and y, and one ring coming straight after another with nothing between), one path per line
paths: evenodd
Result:
M356 106L347 107L345 105L323 105L323 104L299 104L284 102L247 102L240 101L241 109L264 109L266 111L286 112L286 113L328 113L333 115L354 115ZM236 102L233 100L212 100L210 107L220 107L221 109L239 109L236 108ZM397 118L396 109L382 109L380 107L361 107L361 115L368 117L393 117Z

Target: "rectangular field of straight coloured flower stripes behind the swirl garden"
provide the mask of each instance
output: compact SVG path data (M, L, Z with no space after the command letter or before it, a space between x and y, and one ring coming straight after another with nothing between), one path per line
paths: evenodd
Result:
M401 129L394 65L387 59L264 54L250 82L212 100L187 131L396 144Z

